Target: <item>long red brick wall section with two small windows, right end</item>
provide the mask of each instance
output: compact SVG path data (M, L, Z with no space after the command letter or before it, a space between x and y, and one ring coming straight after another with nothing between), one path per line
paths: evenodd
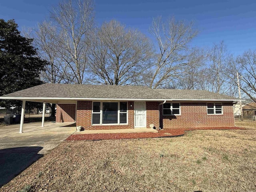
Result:
M160 106L161 128L233 127L232 103L222 103L222 115L208 115L206 103L181 102L181 115L163 116Z

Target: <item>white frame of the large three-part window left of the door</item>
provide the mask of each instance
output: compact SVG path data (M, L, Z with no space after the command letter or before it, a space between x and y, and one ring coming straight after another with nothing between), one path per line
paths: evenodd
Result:
M93 103L94 102L100 102L100 112L93 112ZM120 102L127 102L127 111L126 112L120 112ZM103 117L103 103L118 103L117 107L117 123L102 123L102 117ZM126 113L126 123L120 123L120 114ZM128 125L128 101L93 101L92 102L92 114L100 114L100 124L91 124L93 125Z

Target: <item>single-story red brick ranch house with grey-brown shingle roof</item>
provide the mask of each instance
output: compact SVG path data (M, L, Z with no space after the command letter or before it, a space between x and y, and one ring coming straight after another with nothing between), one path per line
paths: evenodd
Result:
M0 99L56 103L56 122L85 130L233 127L237 98L204 90L42 84Z

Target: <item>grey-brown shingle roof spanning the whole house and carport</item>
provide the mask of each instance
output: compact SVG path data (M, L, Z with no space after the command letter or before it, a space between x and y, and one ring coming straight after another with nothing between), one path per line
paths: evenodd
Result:
M0 98L76 98L138 100L238 100L204 90L151 89L145 86L42 84Z

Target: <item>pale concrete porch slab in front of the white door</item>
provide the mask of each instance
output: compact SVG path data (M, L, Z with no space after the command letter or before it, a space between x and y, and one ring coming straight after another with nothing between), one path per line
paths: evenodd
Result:
M74 134L102 134L102 133L158 133L157 130L151 128L135 128L135 129L112 129L112 130L84 130L74 132Z

